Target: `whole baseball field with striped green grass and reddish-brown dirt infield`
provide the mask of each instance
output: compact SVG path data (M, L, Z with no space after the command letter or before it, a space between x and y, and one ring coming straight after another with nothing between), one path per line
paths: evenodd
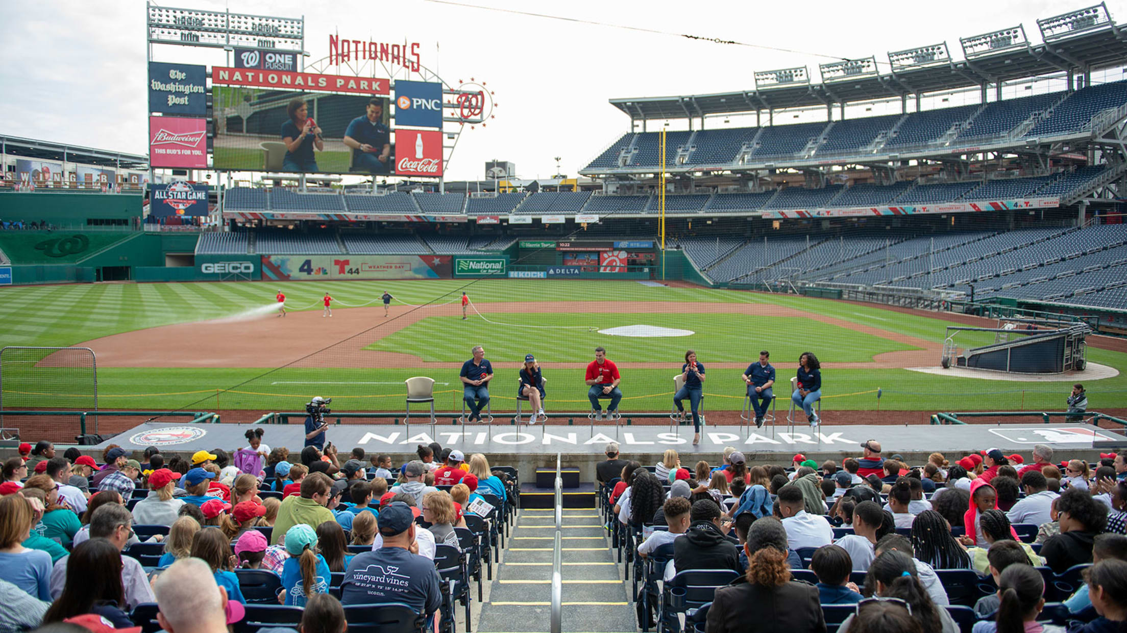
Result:
M277 289L286 295L285 318L275 314ZM458 301L463 289L472 302L467 320ZM396 297L388 316L379 302L383 291ZM334 297L331 318L322 316L326 292ZM673 376L689 348L707 369L706 411L726 419L740 409L739 376L761 349L771 351L779 395L789 395L786 383L801 353L820 359L829 424L917 422L940 410L1059 411L1077 380L1090 410L1127 403L1122 374L1026 382L909 369L935 371L947 326L995 321L684 284L125 283L12 287L0 296L2 346L95 350L100 409L223 411L224 421L300 411L313 395L331 396L336 411L402 411L403 380L416 375L436 381L440 411L459 411L459 368L473 345L485 346L494 363L495 414L512 414L525 354L542 364L549 411L585 412L584 367L600 345L622 372L624 414L669 410ZM682 336L601 331L638 326ZM959 336L966 347L992 342L994 335ZM1093 337L1089 345L1090 363L1127 368L1121 341ZM62 371L46 360L6 367L5 409L72 408L81 394L45 386L45 376ZM780 409L786 402L780 398Z

